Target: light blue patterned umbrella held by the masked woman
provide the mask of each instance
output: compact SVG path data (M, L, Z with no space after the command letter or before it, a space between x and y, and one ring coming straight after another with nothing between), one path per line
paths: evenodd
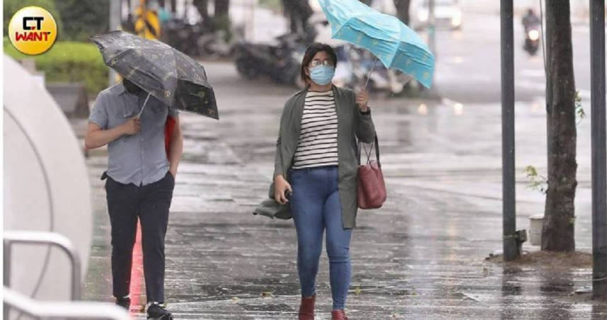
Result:
M395 16L379 13L358 0L319 0L333 38L371 51L384 66L398 69L429 88L434 55L415 31Z

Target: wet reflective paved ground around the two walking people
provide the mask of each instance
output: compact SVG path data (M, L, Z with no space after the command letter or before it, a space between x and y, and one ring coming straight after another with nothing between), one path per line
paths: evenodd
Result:
M181 114L185 154L166 236L166 292L175 319L296 319L299 283L292 221L253 216L267 196L274 144L292 88L247 82L231 64L204 64L221 121ZM591 268L485 261L502 248L499 106L371 98L388 201L359 211L352 237L350 319L606 319L607 307L572 296ZM541 108L517 110L518 229L543 212L522 173L543 167ZM589 251L589 121L579 127L577 248ZM95 238L84 293L110 301L109 219L100 174L88 159ZM521 167L519 169L519 167ZM526 250L538 250L525 244ZM137 252L136 252L137 253ZM139 258L140 259L140 258ZM145 301L135 259L132 295ZM139 260L140 261L140 260ZM139 277L139 278L137 278ZM330 319L326 254L317 319ZM145 315L137 313L137 319Z

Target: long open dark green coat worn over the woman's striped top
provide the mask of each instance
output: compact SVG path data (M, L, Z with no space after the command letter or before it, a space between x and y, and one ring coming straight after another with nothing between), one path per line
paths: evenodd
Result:
M282 174L289 183L289 171L301 132L301 117L304 114L307 88L291 96L284 104L274 158L274 177ZM342 224L345 229L356 227L357 172L360 164L357 139L371 143L375 138L375 127L371 113L361 113L356 104L356 95L351 90L333 86L337 112L337 157L339 159L340 201ZM296 191L295 191L296 192ZM281 205L274 200L274 183L270 185L269 198L259 205L254 215L265 215L279 219L290 219L289 203Z

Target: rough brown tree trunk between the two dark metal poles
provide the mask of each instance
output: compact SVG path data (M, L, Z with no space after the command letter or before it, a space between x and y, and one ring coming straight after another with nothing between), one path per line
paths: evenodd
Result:
M575 81L569 1L546 1L548 192L542 250L574 251Z

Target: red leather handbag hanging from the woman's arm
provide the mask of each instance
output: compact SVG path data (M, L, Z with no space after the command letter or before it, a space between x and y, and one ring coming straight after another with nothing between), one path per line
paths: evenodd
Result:
M375 144L376 160L371 160L371 150ZM386 202L386 183L383 181L381 163L379 162L379 144L377 135L371 144L369 152L366 151L366 164L358 167L357 177L357 203L361 209L378 209ZM361 143L359 142L359 155Z

